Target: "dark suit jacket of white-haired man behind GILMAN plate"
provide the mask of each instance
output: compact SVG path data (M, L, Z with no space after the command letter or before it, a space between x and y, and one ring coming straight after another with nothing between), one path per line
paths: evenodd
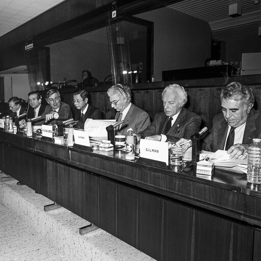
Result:
M144 139L148 136L163 134L168 118L164 112L157 113L153 122L139 135ZM200 124L201 118L196 113L182 107L176 121L166 134L167 141L177 142L180 138L190 138L199 131Z

